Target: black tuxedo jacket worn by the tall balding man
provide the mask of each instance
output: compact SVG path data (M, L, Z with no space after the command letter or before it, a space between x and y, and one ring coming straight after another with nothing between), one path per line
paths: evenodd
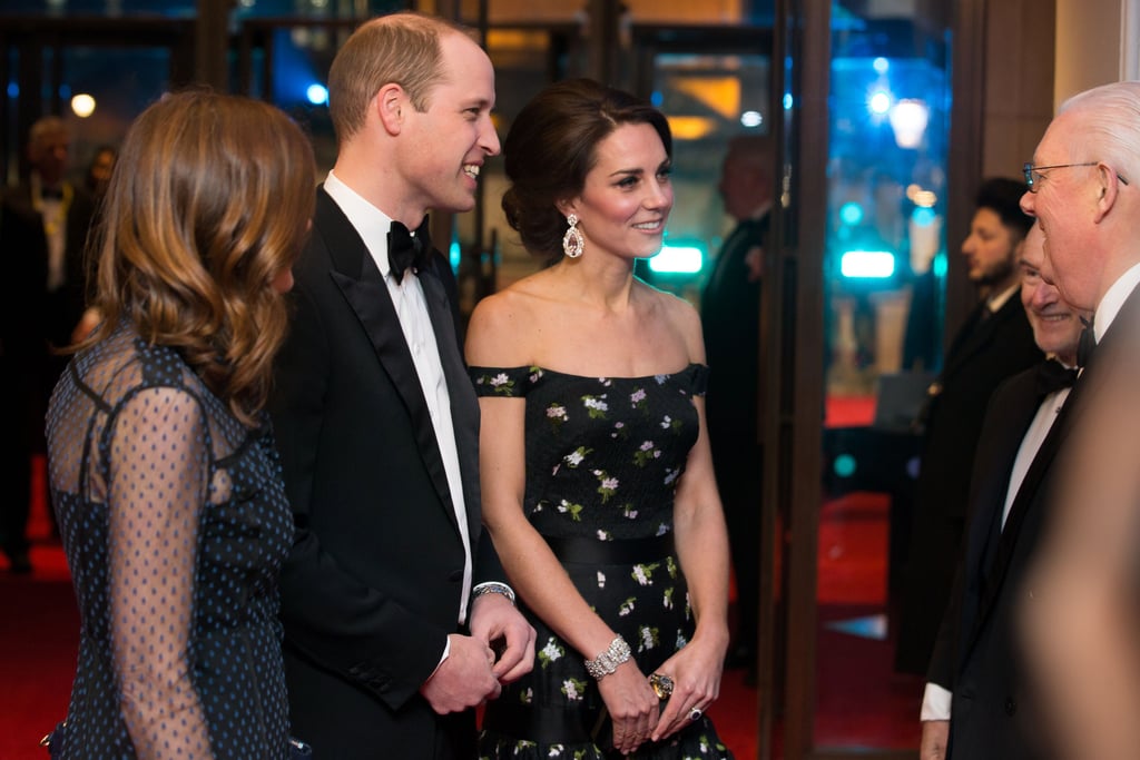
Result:
M318 757L465 754L473 716L442 719L417 690L459 629L464 553L443 460L388 287L323 188L294 278L271 403L298 528L282 575L293 733ZM480 540L479 406L438 252L420 281L450 395L475 580L502 578Z

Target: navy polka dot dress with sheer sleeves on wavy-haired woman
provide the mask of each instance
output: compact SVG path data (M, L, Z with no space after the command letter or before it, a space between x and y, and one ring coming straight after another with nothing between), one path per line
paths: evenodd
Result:
M125 329L60 377L49 479L81 621L62 758L288 755L293 523L264 419Z

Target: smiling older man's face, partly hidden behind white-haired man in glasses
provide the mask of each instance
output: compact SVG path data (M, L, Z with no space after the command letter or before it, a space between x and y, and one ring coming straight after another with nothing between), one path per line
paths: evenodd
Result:
M1034 224L1021 246L1021 304L1033 326L1033 340L1045 353L1056 354L1070 367L1076 365L1076 344L1084 327L1080 312L1065 303L1057 287L1041 277L1045 260L1044 234Z

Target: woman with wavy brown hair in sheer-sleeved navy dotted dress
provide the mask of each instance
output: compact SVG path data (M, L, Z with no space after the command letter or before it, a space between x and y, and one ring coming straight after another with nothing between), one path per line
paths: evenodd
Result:
M63 758L286 758L277 577L292 517L262 407L314 206L276 108L195 91L131 126L93 305L48 412L79 602Z

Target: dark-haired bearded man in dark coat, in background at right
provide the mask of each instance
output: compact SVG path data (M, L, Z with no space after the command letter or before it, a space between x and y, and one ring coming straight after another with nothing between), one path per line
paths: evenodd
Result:
M895 651L902 672L923 673L930 662L953 586L970 468L990 395L1003 379L1042 359L1016 297L1018 256L1033 226L1018 206L1024 191L1025 185L1012 179L983 182L962 243L970 280L983 297L954 335L925 410Z

